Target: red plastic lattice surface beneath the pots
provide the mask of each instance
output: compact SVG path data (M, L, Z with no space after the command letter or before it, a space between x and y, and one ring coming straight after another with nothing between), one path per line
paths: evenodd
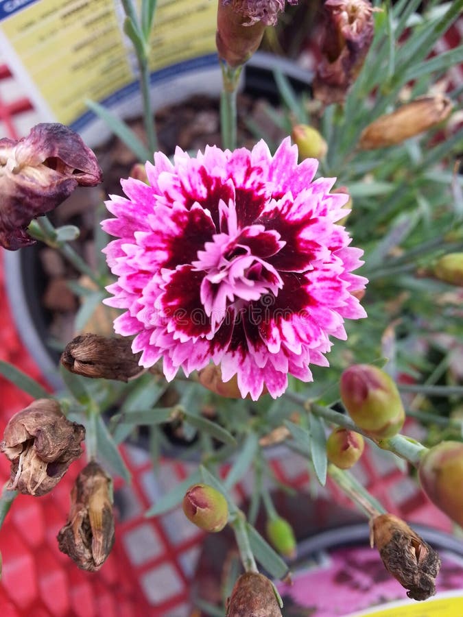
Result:
M36 122L32 119L31 104L24 96L14 96L17 90L12 84L8 67L0 65L1 136L25 134ZM40 380L40 371L15 330L5 297L1 261L0 297L0 359ZM23 409L29 398L1 378L0 386L0 431L3 433L8 419ZM185 519L180 509L157 519L143 517L156 496L178 479L184 479L191 468L166 460L155 477L145 452L129 446L121 449L133 480L130 486L116 482L117 540L100 572L78 570L58 551L56 542L56 534L67 517L69 492L84 463L75 463L49 495L17 498L0 531L2 617L187 617L191 614L189 587L203 535ZM309 476L302 458L288 455L276 459L272 465L279 480L308 491ZM429 503L416 483L386 453L367 449L356 465L355 474L390 511L407 520L450 529L449 520ZM1 483L8 476L8 461L2 456ZM246 483L237 487L237 498L248 494L251 481L252 477L248 477ZM333 485L321 494L326 491L338 503L347 503ZM326 513L320 511L320 520L324 516Z

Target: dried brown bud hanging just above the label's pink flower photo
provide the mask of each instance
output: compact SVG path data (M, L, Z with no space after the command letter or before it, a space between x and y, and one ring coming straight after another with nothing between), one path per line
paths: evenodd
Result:
M370 523L370 540L377 546L383 564L407 589L407 596L426 600L436 593L440 558L413 529L393 514L381 514Z

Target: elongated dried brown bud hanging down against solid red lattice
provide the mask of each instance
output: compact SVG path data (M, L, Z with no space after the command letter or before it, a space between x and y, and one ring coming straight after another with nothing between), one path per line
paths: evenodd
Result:
M94 461L78 475L71 491L67 524L58 533L58 546L81 570L95 572L114 544L112 482Z

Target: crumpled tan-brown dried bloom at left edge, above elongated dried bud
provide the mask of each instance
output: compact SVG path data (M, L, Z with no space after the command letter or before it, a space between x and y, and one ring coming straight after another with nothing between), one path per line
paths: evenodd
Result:
M12 463L8 489L36 496L51 491L82 454L84 437L84 426L69 422L56 400L35 400L11 418L0 443Z

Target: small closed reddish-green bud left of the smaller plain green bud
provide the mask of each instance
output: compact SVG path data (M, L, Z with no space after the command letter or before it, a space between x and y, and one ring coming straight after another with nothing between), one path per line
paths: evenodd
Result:
M194 484L183 498L185 516L204 531L222 531L228 521L226 498L207 484Z

